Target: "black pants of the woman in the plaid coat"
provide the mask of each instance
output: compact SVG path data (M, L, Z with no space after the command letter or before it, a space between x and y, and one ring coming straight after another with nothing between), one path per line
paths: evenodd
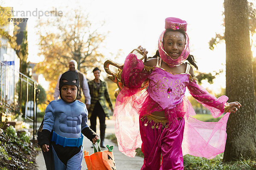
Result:
M99 104L99 101L96 102L92 115L90 117L90 128L96 132L96 120L97 116L99 117L99 130L100 130L100 140L104 141L105 138L105 129L106 129L106 124L105 124L105 118L106 114L102 109L102 106Z

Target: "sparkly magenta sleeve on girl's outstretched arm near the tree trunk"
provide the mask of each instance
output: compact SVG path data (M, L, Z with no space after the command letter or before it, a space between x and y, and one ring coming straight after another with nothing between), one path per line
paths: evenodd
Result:
M196 83L195 79L190 79L189 85L187 86L189 93L204 107L209 109L214 118L221 116L224 113L224 104L227 102L227 96L220 96L218 99L209 94L209 92L201 85Z

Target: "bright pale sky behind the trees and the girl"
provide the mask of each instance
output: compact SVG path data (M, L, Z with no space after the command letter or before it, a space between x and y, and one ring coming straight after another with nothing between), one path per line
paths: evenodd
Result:
M124 62L126 55L139 45L148 50L148 56L152 56L157 49L158 37L164 30L165 18L178 17L188 23L190 54L194 55L199 71L208 73L225 68L225 44L219 44L214 51L209 49L208 44L209 40L215 37L215 33L224 32L222 26L224 0L4 0L3 2L3 6L12 6L14 11L37 9L44 12L56 8L65 15L67 11L76 8L84 10L89 14L92 22L105 21L103 29L109 31L109 34L105 40L104 53L106 58L111 59L110 53L115 54L122 49L124 55L117 59L118 62ZM43 58L38 57L35 23L46 16L27 17L29 18L27 23L29 61L39 62ZM211 87L213 91L225 88L225 75L218 76L214 85L205 83L204 87Z

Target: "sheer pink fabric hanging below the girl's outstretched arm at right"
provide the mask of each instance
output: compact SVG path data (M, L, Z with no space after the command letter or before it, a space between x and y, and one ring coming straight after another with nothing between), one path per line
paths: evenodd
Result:
M192 117L195 116L195 111L186 97L183 98L183 102L187 107L182 141L183 156L189 154L212 159L224 152L227 139L227 120L230 113L225 113L218 122L202 122ZM225 102L227 101L224 100L223 103ZM215 108L211 106L207 106L207 108L210 109L212 116L221 116L220 111L214 112Z

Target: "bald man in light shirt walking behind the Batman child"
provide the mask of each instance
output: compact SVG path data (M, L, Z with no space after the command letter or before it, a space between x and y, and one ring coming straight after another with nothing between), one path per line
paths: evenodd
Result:
M79 93L78 93L77 99L79 101L81 101L81 97L82 97L81 96L81 90L82 90L83 94L84 94L84 97L85 97L85 104L88 107L90 105L90 100L91 100L90 90L89 90L87 79L86 79L85 75L81 71L77 70L76 60L74 60L74 59L70 60L70 62L69 62L69 71L75 71L76 74L78 75L80 86L79 86ZM53 94L53 97L54 97L55 100L58 99L58 96L60 94L60 92L59 92L59 80L61 78L61 75L58 77L58 81L57 81L57 84L55 86L55 90L54 90L54 94Z

